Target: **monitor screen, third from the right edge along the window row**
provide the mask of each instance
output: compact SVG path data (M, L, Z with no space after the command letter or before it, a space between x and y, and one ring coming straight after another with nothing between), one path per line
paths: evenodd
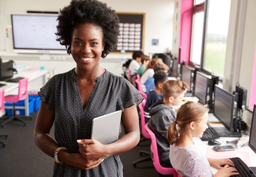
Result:
M207 75L196 71L195 75L195 96L198 97L204 105L207 103L207 89L209 85L209 77Z

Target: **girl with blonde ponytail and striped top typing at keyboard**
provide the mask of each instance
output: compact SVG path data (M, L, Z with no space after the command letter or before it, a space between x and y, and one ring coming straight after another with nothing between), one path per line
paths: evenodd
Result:
M179 108L176 121L167 131L170 143L170 161L183 177L230 177L238 175L230 159L208 159L193 143L193 137L202 137L207 127L209 109L201 103L187 102ZM177 126L179 127L177 130ZM210 165L220 169L212 174ZM221 167L224 166L224 167Z

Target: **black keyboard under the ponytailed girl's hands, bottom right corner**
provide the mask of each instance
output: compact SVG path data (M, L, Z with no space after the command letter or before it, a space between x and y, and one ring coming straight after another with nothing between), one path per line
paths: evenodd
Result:
M239 172L239 175L233 175L231 177L256 177L253 171L239 158L230 158L235 164L235 168Z

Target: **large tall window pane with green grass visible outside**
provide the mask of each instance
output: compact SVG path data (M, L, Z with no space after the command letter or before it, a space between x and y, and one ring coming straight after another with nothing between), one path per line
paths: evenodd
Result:
M208 2L202 68L223 76L231 0L209 0Z

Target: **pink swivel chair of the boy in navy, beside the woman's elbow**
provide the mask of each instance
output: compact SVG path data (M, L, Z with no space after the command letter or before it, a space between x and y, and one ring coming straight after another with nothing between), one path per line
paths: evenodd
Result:
M150 135L148 134L148 132L145 129L145 117L144 117L144 109L142 107L142 104L139 104L139 109L140 109L140 125L141 125L141 131L142 131L142 135L143 135L143 138L140 139L140 142L142 142L145 140L150 140ZM140 155L143 155L143 154L146 154L148 156L142 157L138 160L134 160L132 163L134 167L136 167L138 163L151 160L149 151L140 151Z

